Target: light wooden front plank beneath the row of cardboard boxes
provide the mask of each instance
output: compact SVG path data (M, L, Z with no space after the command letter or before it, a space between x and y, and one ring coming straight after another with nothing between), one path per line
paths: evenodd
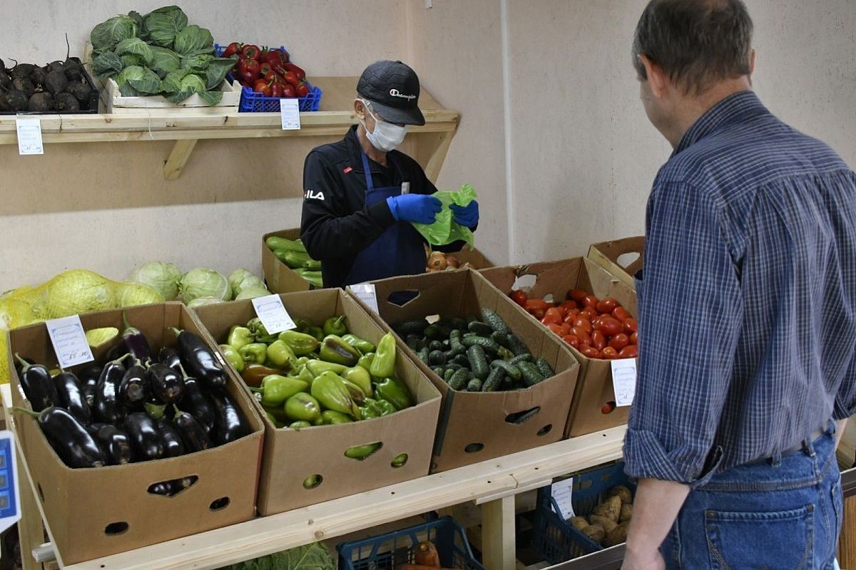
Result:
M381 525L426 510L468 502L535 480L621 457L625 426L521 451L495 460L390 485L287 513L250 520L122 554L66 566L73 570L218 568ZM510 504L512 498L501 499ZM491 568L491 570L493 570Z

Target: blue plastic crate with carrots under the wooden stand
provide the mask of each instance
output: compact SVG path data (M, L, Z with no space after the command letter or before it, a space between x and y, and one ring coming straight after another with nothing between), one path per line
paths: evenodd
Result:
M413 550L423 540L434 543L444 568L486 570L473 556L463 527L451 517L339 544L339 570L395 570L399 564L413 563Z

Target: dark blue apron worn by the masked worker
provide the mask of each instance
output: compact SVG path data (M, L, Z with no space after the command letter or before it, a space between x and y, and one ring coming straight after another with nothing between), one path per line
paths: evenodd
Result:
M363 159L363 169L366 171L366 206L373 206L390 196L401 196L401 186L375 188L369 159L365 152L360 151L360 155ZM387 156L397 168L392 156ZM425 246L422 236L410 222L396 221L371 245L357 254L344 285L415 273L425 273Z

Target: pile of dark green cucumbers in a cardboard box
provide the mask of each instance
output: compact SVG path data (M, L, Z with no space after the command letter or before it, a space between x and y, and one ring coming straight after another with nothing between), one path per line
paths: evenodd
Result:
M482 309L480 319L415 319L392 328L452 390L526 390L555 374L490 309Z

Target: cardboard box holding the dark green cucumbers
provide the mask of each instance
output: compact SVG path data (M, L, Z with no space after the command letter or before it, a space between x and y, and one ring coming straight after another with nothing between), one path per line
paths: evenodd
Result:
M372 315L378 322L399 323L431 315L466 316L479 314L481 309L493 309L526 343L532 356L543 357L556 371L553 378L526 390L454 391L398 338L400 350L407 351L443 394L432 471L486 461L562 439L579 364L559 338L545 333L538 323L520 314L508 297L473 270L393 277L373 283L380 314L372 312ZM403 306L390 303L390 294L397 291L413 291L417 297ZM532 408L540 410L531 420L522 424L506 421L509 414Z

